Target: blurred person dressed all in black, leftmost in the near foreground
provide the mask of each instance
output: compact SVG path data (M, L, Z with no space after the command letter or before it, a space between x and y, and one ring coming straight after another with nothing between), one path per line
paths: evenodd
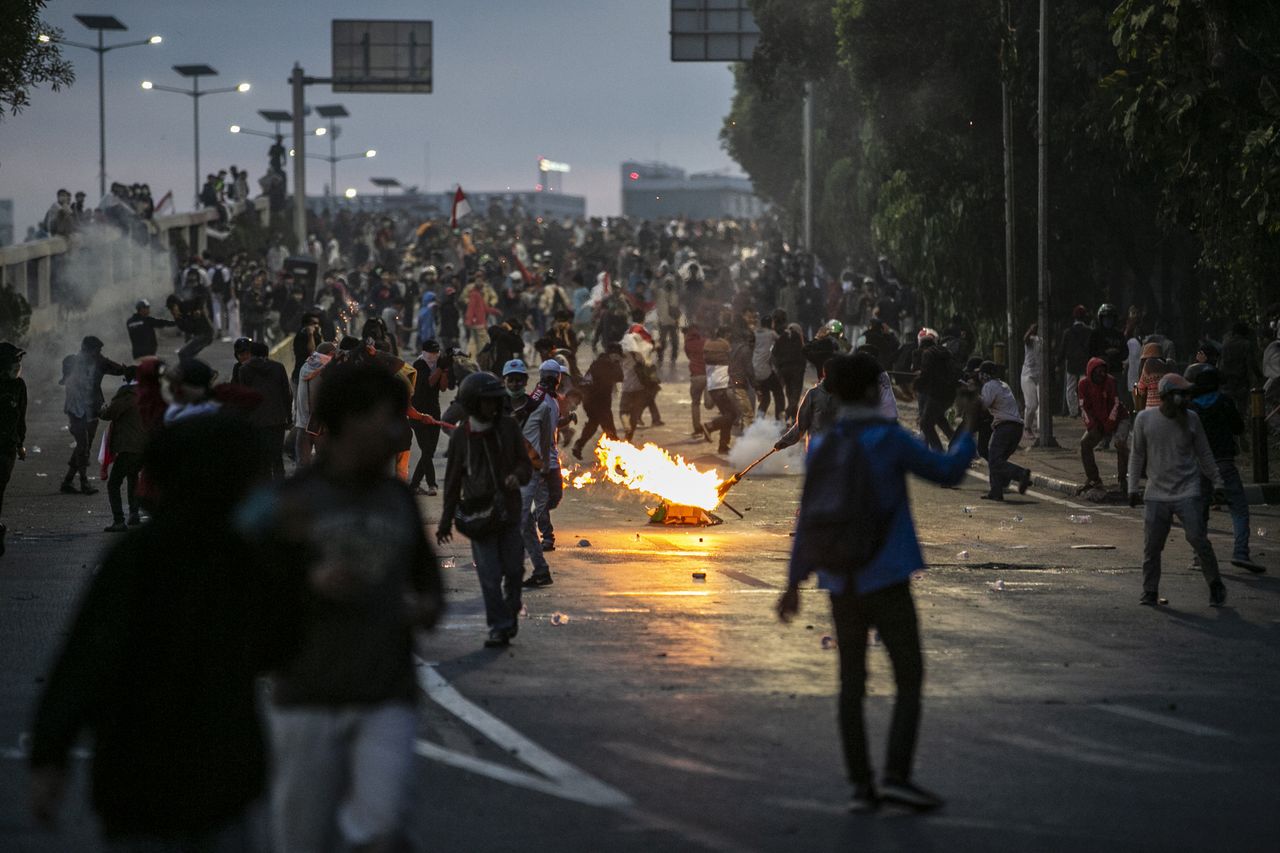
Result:
M256 679L275 648L264 574L229 523L256 476L252 442L243 421L211 415L147 448L155 519L92 574L36 708L40 824L56 821L87 731L109 847L251 849L247 812L266 781Z

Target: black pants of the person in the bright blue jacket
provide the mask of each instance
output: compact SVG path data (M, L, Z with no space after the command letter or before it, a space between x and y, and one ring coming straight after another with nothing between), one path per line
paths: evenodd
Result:
M897 689L888 730L884 777L908 781L911 779L924 688L924 657L920 653L920 629L911 589L902 583L867 596L832 596L831 615L836 622L836 642L840 647L840 736L845 747L849 781L854 785L869 785L874 776L867 753L867 724L863 716L863 697L867 694L867 633L873 628L879 631L881 642L888 651Z

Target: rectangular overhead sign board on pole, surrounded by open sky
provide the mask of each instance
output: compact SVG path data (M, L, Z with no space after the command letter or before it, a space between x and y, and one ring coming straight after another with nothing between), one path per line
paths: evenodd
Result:
M431 92L430 20L334 20L333 91Z

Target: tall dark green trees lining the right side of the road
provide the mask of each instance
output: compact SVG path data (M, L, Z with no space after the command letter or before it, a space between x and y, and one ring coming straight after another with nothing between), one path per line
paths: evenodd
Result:
M1052 0L1052 311L1108 301L1194 339L1258 320L1280 233L1280 4ZM1036 0L754 0L722 141L800 233L814 83L814 248L888 255L984 343L1004 337L1002 83L1011 104L1019 332L1034 320Z

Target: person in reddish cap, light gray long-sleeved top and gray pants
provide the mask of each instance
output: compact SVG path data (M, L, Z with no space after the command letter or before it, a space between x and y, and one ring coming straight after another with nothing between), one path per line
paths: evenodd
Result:
M1217 557L1204 528L1201 476L1222 487L1222 475L1199 415L1187 410L1192 383L1176 373L1160 379L1160 406L1138 412L1129 456L1129 506L1143 503L1142 598L1139 605L1160 603L1160 556L1174 517L1183 525L1187 542L1199 558L1208 583L1208 603L1221 607L1226 587L1217 573ZM1138 480L1147 473L1147 491L1138 493Z

